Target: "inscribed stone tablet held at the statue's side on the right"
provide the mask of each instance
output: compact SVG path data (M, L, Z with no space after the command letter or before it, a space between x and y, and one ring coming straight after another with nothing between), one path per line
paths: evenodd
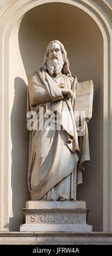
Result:
M93 96L94 84L92 80L76 84L76 100L74 103L74 109L75 111L79 111L79 117L81 116L81 112L85 111L86 120L91 119Z

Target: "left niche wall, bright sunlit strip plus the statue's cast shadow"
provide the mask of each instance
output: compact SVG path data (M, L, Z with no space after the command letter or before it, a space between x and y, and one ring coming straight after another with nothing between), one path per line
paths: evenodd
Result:
M9 231L19 230L22 208L29 199L27 185L28 141L26 127L27 76L18 44L16 24L10 36L9 77Z

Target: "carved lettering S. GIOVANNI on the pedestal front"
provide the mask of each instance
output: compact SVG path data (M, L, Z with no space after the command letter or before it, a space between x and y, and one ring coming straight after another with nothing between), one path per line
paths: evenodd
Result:
M42 222L42 223L78 223L80 222L79 214L44 214L44 215L31 215L31 222Z

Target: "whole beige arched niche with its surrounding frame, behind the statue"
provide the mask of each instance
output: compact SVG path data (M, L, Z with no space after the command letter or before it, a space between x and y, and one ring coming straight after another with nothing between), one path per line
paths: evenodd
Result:
M28 132L25 121L27 78L41 65L48 42L56 38L65 45L72 74L77 75L78 81L90 78L94 80L94 112L89 124L91 162L85 166L83 185L78 187L78 199L86 200L90 209L88 222L93 225L94 231L108 231L111 229L111 207L108 207L111 187L108 179L111 141L107 139L111 125L110 112L108 113L109 23L101 21L101 9L93 5L94 1L92 7L87 4L88 1L83 1L82 4L79 1L66 1L67 4L64 1L49 2L52 3L19 3L16 15L14 13L9 25L6 22L2 38L2 52L5 53L2 72L2 120L5 130L2 130L4 153L1 202L3 204L4 200L4 208L1 210L1 229L18 230L22 223L22 208L29 199ZM51 23L53 17L55 30ZM106 20L106 17L104 19ZM107 52L104 52L104 49ZM7 157L8 161L5 161Z

